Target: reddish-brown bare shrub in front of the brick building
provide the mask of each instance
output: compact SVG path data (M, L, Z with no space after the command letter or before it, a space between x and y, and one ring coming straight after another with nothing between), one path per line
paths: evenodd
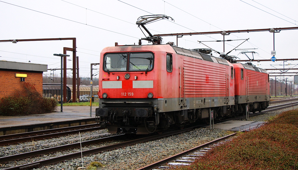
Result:
M26 95L14 93L0 99L0 116L21 116L54 112L57 107L55 99L43 98L34 85L25 83Z

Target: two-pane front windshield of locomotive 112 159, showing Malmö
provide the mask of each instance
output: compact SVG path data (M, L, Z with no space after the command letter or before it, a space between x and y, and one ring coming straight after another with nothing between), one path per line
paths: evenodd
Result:
M105 54L103 61L103 70L107 72L151 71L153 69L153 54L150 52L110 53Z

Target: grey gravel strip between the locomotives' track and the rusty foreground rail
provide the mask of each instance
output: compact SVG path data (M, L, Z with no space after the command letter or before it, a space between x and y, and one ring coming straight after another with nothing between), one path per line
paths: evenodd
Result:
M207 141L225 136L226 131L220 129L209 130L208 128L199 128L190 132L184 132L179 135L162 138L155 141L127 146L121 149L115 149L91 156L83 157L84 165L98 161L103 163L102 169L137 169L148 163L166 158L170 155L180 153L186 149L191 149ZM72 159L64 163L44 166L41 169L74 169L82 166L81 159Z

